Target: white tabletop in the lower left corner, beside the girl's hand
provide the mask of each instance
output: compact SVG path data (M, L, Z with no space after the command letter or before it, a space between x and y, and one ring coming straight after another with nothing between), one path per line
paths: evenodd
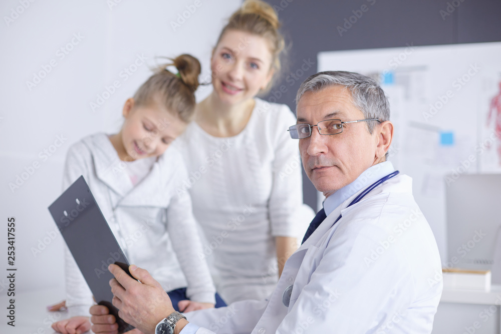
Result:
M0 300L0 333L2 334L54 334L51 324L68 317L67 312L49 312L47 306L63 300L65 297L64 288L48 289L43 291L21 292L15 297L16 306L16 326L7 324L6 317L8 306L7 295ZM92 333L92 331L88 331Z

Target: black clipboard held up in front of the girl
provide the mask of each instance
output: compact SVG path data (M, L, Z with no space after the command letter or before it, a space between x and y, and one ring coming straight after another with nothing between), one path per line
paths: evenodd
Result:
M87 182L80 176L49 206L52 218L63 235L73 258L91 289L96 302L110 309L118 323L118 332L134 327L118 316L113 306L108 265L119 265L131 277L129 262L96 203ZM134 278L135 279L135 278Z

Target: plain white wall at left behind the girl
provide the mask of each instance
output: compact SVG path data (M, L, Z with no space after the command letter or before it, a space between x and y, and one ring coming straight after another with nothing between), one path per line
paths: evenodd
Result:
M0 268L5 273L8 267L7 219L15 217L17 291L64 285L63 240L47 207L61 193L71 144L95 132L114 133L120 128L123 103L150 76L155 57L190 53L202 63L201 78L207 78L211 48L240 1L198 0L198 8L194 3L8 0L0 4ZM186 6L196 10L174 29L171 22L178 15L184 12L188 17ZM121 76L126 67L134 70L137 55L147 58L145 64L128 78ZM56 66L50 66L51 61ZM43 78L28 84L35 75ZM120 87L92 110L90 103L96 103L97 95L114 81ZM198 97L209 92L210 88L202 88ZM62 144L56 141L58 136ZM18 176L25 180L18 179L19 188L11 190L10 183L16 184ZM0 295L6 293L5 276L0 274ZM52 301L56 300L47 303Z

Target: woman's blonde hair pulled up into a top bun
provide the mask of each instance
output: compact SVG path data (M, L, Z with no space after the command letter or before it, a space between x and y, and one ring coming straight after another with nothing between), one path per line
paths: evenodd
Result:
M280 56L284 51L285 41L279 32L280 21L277 13L269 4L260 0L246 0L228 20L221 31L216 46L229 30L237 30L266 38L270 42L274 79L281 71ZM270 88L269 85L268 88Z

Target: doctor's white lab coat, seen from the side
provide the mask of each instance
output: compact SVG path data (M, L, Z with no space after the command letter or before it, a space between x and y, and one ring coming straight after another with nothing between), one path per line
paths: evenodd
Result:
M348 207L353 195L291 255L269 299L187 313L188 321L204 327L197 334L430 333L441 264L411 190L398 175Z

